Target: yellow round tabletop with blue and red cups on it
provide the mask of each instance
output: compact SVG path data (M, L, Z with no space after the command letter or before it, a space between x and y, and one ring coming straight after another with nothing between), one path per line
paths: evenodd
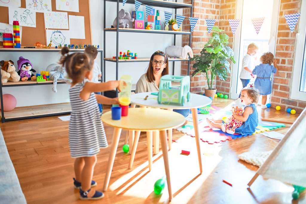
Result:
M101 120L112 127L138 131L167 130L185 122L180 113L152 108L129 108L128 116L121 116L120 120L112 120L112 113L108 111Z

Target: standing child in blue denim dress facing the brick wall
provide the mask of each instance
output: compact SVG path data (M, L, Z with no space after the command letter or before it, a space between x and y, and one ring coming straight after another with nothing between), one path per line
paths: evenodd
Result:
M257 75L255 80L255 86L259 90L261 98L261 108L267 108L267 95L271 94L272 91L272 82L271 74L276 73L278 70L277 60L274 58L274 55L271 52L265 52L260 57L262 64L257 65L253 69L252 74ZM273 65L272 65L273 63Z

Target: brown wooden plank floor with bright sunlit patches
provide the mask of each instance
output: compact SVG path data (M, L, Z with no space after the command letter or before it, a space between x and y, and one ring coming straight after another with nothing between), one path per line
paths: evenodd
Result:
M229 99L218 98L213 105L225 107ZM260 106L259 106L260 107ZM108 111L109 107L105 107ZM258 109L261 111L261 109ZM276 120L295 121L298 114L265 109L259 115ZM31 203L94 203L82 202L79 193L73 188L73 158L70 157L68 143L68 121L58 117L9 121L0 124L11 160L17 172L22 191ZM113 128L105 125L109 145ZM277 129L285 133L285 128ZM161 153L153 157L153 168L148 171L147 140L141 134L132 169L128 169L129 154L122 151L125 131L121 133L115 158L110 186L105 198L99 203L168 203L168 191L156 196L153 185L165 174ZM245 151L273 150L277 141L257 134L234 139L219 144L200 142L203 159L203 173L199 174L195 139L174 130L173 143L169 151L172 192L171 203L306 203L305 195L292 201L293 187L275 180L263 179L254 182L251 191L247 183L258 167L238 159ZM191 153L182 155L181 150ZM102 190L110 148L102 149L98 154L94 180L97 190ZM233 187L222 182L233 184ZM0 201L1 202L1 201Z

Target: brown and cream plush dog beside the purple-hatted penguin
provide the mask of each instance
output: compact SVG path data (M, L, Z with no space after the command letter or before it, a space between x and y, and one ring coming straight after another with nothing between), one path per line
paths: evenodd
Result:
M20 76L16 72L16 68L14 66L14 62L12 60L9 61L0 61L1 66L1 81L2 83L6 83L7 81L17 82L20 80ZM8 78L6 78L8 76Z

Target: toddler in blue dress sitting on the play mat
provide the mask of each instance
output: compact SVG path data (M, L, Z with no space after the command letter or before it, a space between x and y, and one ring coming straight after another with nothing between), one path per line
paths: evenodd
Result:
M243 121L239 128L236 128L235 133L241 135L252 135L255 132L255 128L258 125L258 113L256 110L255 103L258 102L259 91L254 87L254 85L248 84L241 90L241 103L244 112L241 116L236 115L233 112L233 116L239 121ZM223 120L214 120L207 118L207 123L209 127L222 129Z

